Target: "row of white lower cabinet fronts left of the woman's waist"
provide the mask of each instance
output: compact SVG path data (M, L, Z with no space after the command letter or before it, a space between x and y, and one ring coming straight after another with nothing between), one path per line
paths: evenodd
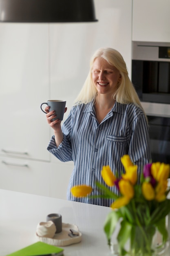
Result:
M73 162L0 157L0 189L66 199Z

